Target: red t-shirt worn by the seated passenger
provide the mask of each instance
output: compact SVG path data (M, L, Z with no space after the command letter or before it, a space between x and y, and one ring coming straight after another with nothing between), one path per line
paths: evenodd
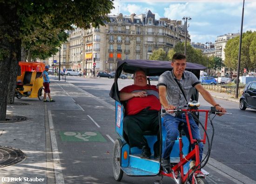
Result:
M147 85L144 87L136 86L136 85L130 85L126 86L123 89L121 89L120 92L125 93L132 93L132 92L138 92L138 91L146 91L148 96L145 97L133 97L129 99L126 103L126 109L125 114L126 115L134 115L144 108L148 108L148 110L157 110L159 111L161 109L161 104L159 101L159 95L158 95L158 89L156 89L155 85Z

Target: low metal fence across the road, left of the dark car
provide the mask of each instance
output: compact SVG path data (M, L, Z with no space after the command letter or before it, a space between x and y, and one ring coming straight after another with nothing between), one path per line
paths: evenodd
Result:
M202 84L204 89L209 89L212 91L217 91L219 93L229 93L231 95L235 95L236 87L235 86L227 86L227 85L214 85L214 84ZM238 94L242 95L243 89L238 89Z

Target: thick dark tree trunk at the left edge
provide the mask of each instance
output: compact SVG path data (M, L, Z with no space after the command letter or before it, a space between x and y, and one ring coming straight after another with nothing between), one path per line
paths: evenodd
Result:
M6 120L7 97L13 95L20 60L20 27L16 6L0 4L0 121ZM8 95L10 94L10 95Z

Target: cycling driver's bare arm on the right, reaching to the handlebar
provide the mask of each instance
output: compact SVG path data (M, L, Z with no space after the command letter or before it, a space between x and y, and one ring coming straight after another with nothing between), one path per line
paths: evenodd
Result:
M202 97L204 98L204 100L206 100L208 103L210 103L212 106L214 106L216 108L216 110L218 110L222 113L227 112L225 108L222 108L219 104L216 103L216 101L214 100L212 95L207 90L205 90L201 84L196 84L195 89L197 89L199 91L199 93L202 95ZM222 114L219 114L219 115L222 115Z

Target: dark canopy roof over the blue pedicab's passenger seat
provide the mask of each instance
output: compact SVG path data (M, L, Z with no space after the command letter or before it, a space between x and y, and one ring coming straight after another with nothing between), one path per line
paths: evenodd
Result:
M155 61L143 59L119 61L117 63L117 69L115 72L115 82L112 85L109 95L114 100L120 102L117 80L122 71L125 73L134 73L136 70L143 70L147 76L160 76L163 72L171 71L172 69L171 61ZM191 71L199 79L200 70L205 69L207 68L201 64L187 62L185 70ZM198 93L196 94L196 97L198 98Z

